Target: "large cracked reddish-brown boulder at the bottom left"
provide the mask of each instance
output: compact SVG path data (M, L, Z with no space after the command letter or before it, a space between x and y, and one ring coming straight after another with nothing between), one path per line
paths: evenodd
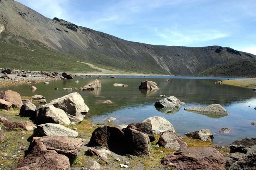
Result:
M28 170L70 170L83 144L82 139L64 136L33 137L28 154L20 159L18 168Z

